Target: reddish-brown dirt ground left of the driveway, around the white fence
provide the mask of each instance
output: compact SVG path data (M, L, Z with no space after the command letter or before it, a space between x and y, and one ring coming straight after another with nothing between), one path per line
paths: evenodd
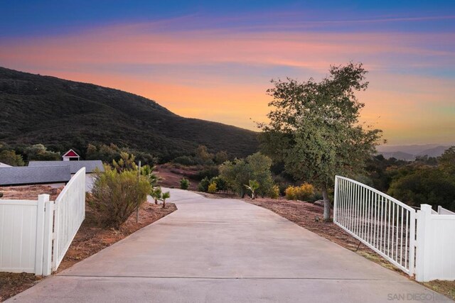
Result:
M60 191L61 189L53 189L43 185L21 188L0 188L0 192L4 192L3 199L37 199L38 194L50 194L50 199L53 200L58 196ZM122 240L122 238L129 236L129 234L134 233L134 231L171 214L171 212L177 209L173 203L166 203L166 209L162 209L161 206L161 204L142 204L139 209L139 222L136 222L136 213L134 212L122 227L116 231L114 228L100 227L97 222L97 211L87 202L85 207L85 221L80 226L79 231L77 231L73 243L71 243L57 272L70 268L75 263L90 257L90 255L97 253L107 246L111 246L117 241ZM19 292L23 292L40 280L41 277L25 272L0 272L0 302L13 297Z

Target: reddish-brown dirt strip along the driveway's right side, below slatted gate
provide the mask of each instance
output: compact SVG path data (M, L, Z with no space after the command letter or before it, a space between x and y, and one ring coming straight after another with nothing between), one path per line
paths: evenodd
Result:
M221 197L226 197L226 195L221 195ZM402 270L390 264L387 260L382 258L370 248L364 246L363 244L360 244L360 246L358 246L359 241L357 239L350 236L348 233L343 231L343 229L336 226L336 224L333 224L333 222L323 222L323 206L318 206L309 202L288 201L286 199L257 198L254 200L244 199L244 201L264 207L264 209L269 209L274 213L288 219L289 221L292 221L295 224L308 229L309 231L313 231L319 236L337 243L339 246L353 250L355 253L362 255L368 260L378 263L390 270L394 270L400 275L404 275L405 277L409 278L405 272L402 272ZM439 292L440 294L444 294L451 299L455 299L455 281L435 280L421 284L429 287L435 292Z

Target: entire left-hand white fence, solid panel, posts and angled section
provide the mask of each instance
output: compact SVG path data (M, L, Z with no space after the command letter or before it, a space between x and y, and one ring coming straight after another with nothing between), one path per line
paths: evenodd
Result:
M55 212L54 212L55 210ZM85 168L55 202L0 199L0 271L50 275L85 217Z

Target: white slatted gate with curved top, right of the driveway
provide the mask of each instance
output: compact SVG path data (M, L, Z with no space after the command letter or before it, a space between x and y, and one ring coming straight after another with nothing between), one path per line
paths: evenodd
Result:
M365 184L335 177L333 221L398 268L414 274L416 211Z

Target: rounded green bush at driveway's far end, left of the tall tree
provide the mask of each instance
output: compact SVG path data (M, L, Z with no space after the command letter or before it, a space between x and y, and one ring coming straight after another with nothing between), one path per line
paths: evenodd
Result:
M270 172L271 165L272 160L269 157L255 153L246 159L226 161L220 165L220 177L228 183L230 189L240 194L241 197L245 196L244 185L250 180L257 180L261 184L257 194L265 196L274 185Z

